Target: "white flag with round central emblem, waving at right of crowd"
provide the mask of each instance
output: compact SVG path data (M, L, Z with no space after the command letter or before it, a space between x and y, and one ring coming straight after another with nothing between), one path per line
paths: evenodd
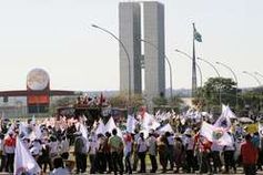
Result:
M206 137L210 142L216 142L219 145L233 144L231 136L224 128L213 126L206 122L202 123L200 135Z

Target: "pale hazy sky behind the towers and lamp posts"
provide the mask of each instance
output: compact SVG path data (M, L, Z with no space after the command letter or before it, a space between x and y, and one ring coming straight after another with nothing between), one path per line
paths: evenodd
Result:
M27 74L33 68L49 72L52 89L118 90L119 43L91 24L118 35L119 2L0 0L0 91L26 89ZM165 52L173 69L173 87L191 87L191 62L174 49L192 54L192 22L203 37L196 44L198 56L231 66L239 86L257 85L242 71L263 74L263 1L160 2L165 7ZM204 81L215 76L211 66L200 65ZM233 78L225 68L216 68L222 76Z

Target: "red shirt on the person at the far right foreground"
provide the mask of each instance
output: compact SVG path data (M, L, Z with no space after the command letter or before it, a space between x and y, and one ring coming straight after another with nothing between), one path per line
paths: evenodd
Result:
M242 143L241 155L243 164L255 164L257 161L257 150L251 142Z

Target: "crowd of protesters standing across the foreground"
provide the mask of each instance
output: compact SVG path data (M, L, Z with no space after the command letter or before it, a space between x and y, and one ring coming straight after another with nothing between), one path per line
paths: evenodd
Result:
M83 119L29 120L27 123L2 119L0 172L14 171L17 136L42 172L55 175L156 172L235 174L239 166L243 166L245 174L253 175L262 169L263 142L259 132L251 134L235 124L235 130L227 131L232 144L222 146L200 135L200 127L193 121L176 122L174 132L150 130L145 134L139 123L134 132L123 131L120 136L117 128L98 133L95 125L83 133L80 130ZM73 162L70 161L72 157ZM146 163L146 157L150 163Z

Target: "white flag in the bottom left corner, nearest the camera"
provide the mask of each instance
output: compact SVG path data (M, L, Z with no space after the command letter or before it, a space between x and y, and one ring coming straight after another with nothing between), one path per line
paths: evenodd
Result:
M38 163L24 147L20 138L17 137L14 151L14 175L21 175L22 173L34 175L40 174L40 172L41 168Z

